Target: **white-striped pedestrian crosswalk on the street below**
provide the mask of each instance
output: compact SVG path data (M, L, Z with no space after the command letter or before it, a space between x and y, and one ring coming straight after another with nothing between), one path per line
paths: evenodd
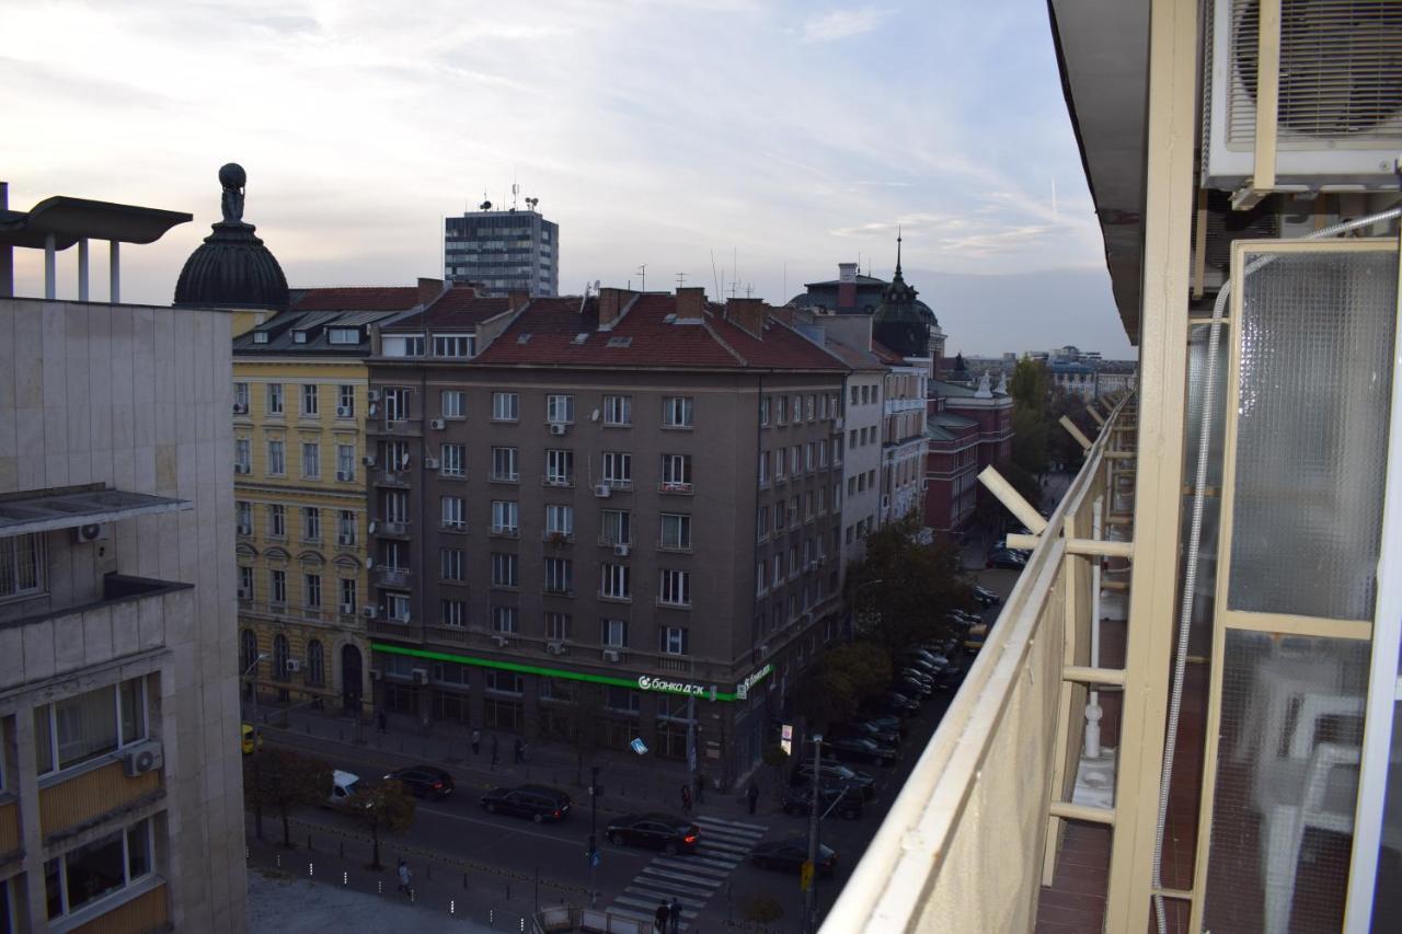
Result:
M681 906L684 931L715 895L725 879L750 855L767 827L757 823L722 820L721 818L693 818L700 833L695 853L659 855L642 868L632 882L614 898L610 914L637 919L652 924L659 902L677 900Z

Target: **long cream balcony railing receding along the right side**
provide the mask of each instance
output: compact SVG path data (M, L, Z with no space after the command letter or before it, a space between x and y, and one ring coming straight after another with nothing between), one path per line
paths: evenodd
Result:
M1122 412L1087 452L824 931L1033 930L1044 847L1057 843L1052 801L1070 799L1084 738L1085 687L1064 675L1089 665L1091 572L1067 540L1092 536Z

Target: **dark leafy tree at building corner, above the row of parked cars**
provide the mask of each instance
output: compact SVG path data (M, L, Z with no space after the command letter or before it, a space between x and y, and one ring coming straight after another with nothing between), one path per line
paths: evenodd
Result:
M944 638L945 613L969 609L973 595L959 576L959 550L923 541L920 520L906 516L866 536L866 555L847 568L847 603L857 635L896 655Z

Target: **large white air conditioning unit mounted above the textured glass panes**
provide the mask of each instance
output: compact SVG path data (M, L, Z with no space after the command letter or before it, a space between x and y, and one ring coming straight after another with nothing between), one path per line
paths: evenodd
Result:
M1402 27L1387 3L1284 0L1262 43L1259 0L1213 0L1203 187L1235 191L1256 161L1260 48L1279 39L1276 189L1395 189L1402 150Z

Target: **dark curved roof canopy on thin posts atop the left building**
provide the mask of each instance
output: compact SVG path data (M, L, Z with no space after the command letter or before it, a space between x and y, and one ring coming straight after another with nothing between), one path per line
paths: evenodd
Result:
M57 195L45 198L28 212L0 212L0 247L42 250L50 236L57 250L67 250L84 238L156 243L167 230L188 220L193 220L193 215L179 210Z

